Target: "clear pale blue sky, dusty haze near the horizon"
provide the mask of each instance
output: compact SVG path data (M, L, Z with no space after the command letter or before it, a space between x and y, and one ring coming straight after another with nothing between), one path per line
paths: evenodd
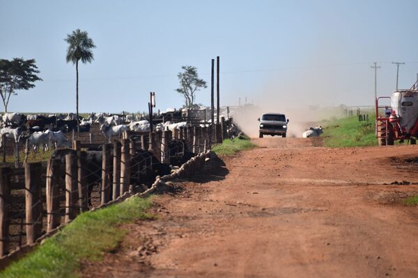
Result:
M80 111L179 107L182 65L210 84L221 57L221 104L238 98L277 106L369 105L373 61L378 94L409 88L418 72L418 1L5 1L0 58L35 58L43 81L10 100L10 111L75 111L75 67L66 34L94 40L79 67ZM197 101L210 104L210 88Z

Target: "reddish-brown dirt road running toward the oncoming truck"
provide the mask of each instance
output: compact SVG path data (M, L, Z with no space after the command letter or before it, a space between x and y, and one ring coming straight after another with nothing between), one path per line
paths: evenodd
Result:
M254 142L156 197L157 220L82 276L418 277L418 208L400 202L418 186L388 185L418 182L418 146Z

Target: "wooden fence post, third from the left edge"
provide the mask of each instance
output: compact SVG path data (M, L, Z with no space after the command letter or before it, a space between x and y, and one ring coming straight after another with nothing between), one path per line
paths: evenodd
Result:
M59 179L61 161L49 159L47 163L47 231L51 231L61 224L59 209Z

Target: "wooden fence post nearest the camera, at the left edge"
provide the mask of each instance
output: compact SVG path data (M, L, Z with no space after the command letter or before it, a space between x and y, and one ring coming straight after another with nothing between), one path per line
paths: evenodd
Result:
M6 202L10 200L10 174L9 167L0 167L0 256L8 254L9 248L10 220Z

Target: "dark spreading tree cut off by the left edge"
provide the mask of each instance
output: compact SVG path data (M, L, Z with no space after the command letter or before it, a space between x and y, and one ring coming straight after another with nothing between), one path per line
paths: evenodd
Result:
M34 82L42 80L36 75L38 73L35 59L0 59L0 95L4 113L7 113L10 97L17 95L17 90L29 90L35 87Z

